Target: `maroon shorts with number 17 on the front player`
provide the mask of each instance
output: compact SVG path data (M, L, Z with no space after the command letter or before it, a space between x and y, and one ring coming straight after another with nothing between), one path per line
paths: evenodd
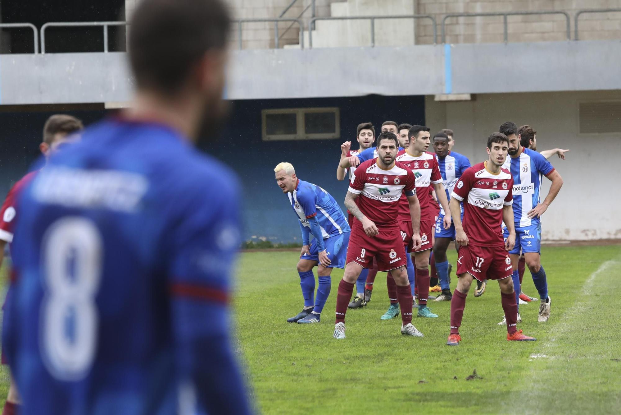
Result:
M479 281L507 278L513 273L509 252L504 247L460 247L457 254L457 275L466 272Z

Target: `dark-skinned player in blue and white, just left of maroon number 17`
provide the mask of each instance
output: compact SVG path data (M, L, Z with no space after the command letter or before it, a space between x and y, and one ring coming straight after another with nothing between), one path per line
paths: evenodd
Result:
M438 132L433 136L433 150L435 158L438 160L440 175L442 175L443 185L446 191L446 198L450 199L450 194L455 184L470 166L470 160L465 155L448 150L448 135ZM463 219L463 203L461 206L461 217ZM435 238L433 240L433 256L435 257L435 267L438 271L438 280L442 293L435 301L450 301L452 294L448 283L448 259L446 250L451 240L455 240L455 225L444 229L444 209L440 206L440 214L435 222Z

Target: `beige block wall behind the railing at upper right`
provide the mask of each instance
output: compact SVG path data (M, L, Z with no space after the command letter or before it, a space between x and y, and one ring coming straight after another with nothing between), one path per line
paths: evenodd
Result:
M579 9L621 7L621 0L415 0L418 14L431 14L438 23L438 43L442 42L442 19L453 13L505 11L566 11L570 17L571 37L574 16ZM509 42L538 42L566 39L566 20L562 15L509 16ZM503 41L502 16L459 17L446 21L447 43L496 43ZM580 39L621 39L621 12L584 14L579 22ZM417 43L433 43L432 24L420 21Z

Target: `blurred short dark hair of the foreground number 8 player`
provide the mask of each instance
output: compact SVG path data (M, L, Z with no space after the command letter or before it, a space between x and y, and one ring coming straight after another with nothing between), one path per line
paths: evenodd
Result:
M174 94L209 49L224 49L229 11L221 0L142 0L128 52L138 88Z

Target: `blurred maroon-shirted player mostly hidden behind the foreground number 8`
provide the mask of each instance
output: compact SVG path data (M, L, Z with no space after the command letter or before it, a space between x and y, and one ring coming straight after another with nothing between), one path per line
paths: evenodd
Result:
M55 114L49 117L43 126L43 142L39 144L40 152L47 160L61 145L68 141L73 142L77 140L79 136L74 133L79 132L83 128L84 125L76 117L65 114ZM31 171L17 181L9 190L6 199L4 199L4 204L2 204L2 209L0 210L0 267L2 267L4 260L4 248L6 244L11 244L13 240L13 228L17 222L16 216L19 211L17 199L19 198L20 191L35 178L37 173L39 173L39 170ZM4 353L2 353L2 364L6 365ZM17 386L11 376L9 393L7 394L6 403L4 403L2 415L15 414L18 410L19 400Z

